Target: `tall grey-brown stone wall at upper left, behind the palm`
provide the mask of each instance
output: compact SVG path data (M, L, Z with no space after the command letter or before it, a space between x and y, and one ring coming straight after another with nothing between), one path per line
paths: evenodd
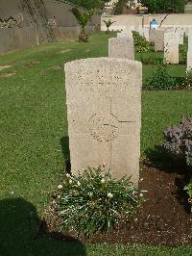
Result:
M62 0L0 0L0 53L25 45L77 38L80 27L70 12L73 7ZM83 13L84 9L80 11ZM93 15L85 29L89 34L100 31L100 15ZM27 31L32 37L26 37Z

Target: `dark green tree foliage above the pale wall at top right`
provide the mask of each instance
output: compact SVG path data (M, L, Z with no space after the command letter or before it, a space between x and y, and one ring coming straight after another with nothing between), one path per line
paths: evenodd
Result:
M149 13L183 13L184 0L141 0Z

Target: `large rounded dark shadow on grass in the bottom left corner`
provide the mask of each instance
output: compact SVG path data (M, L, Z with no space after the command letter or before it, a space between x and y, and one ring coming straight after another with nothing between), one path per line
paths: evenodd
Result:
M0 201L0 255L85 256L84 244L71 237L57 240L54 234L39 235L41 220L36 208L22 198ZM58 234L60 236L60 234Z

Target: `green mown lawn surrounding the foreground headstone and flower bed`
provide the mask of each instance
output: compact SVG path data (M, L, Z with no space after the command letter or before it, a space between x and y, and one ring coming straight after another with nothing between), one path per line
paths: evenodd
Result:
M63 64L108 56L108 35L85 44L54 42L0 56L0 255L191 255L192 249L116 244L32 242L49 194L60 184L66 158L67 119ZM159 53L157 53L159 54ZM136 55L139 60L139 55ZM185 66L171 66L184 76ZM144 80L152 65L144 65ZM192 113L192 91L142 93L142 156L162 143L163 130ZM163 107L162 107L163 106Z

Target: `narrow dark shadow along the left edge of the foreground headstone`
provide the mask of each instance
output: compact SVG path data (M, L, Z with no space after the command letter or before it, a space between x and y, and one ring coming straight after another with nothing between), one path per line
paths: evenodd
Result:
M70 150L69 150L69 138L68 136L60 139L60 146L62 149L62 155L64 157L64 170L67 173L71 172Z

